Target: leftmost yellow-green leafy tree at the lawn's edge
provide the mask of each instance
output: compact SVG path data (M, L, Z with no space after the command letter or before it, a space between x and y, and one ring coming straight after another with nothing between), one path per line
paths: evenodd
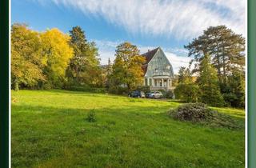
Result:
M37 86L46 80L42 69L46 59L40 55L39 34L26 25L11 26L11 84L14 90L19 86Z

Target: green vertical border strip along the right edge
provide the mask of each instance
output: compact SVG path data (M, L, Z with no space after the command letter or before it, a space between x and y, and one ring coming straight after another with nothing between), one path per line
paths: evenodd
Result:
M256 1L248 0L248 57L247 57L247 164L256 167Z

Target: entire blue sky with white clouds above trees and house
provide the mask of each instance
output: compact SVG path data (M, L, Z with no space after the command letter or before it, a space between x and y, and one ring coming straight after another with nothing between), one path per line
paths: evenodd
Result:
M141 54L160 46L176 74L191 59L184 45L207 27L226 25L245 36L245 6L246 0L12 0L11 22L66 34L81 26L96 42L102 65L114 61L122 42L138 46Z

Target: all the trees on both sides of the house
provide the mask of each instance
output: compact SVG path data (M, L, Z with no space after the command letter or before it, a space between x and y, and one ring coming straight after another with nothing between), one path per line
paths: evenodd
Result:
M192 58L174 78L175 98L211 106L245 106L245 39L226 26L209 27L185 48ZM126 93L142 86L138 47L123 42L115 59L101 66L98 48L75 26L69 34L23 24L11 28L11 86Z

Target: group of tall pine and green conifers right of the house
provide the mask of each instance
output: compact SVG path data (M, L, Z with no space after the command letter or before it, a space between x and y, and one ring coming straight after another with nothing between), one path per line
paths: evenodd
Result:
M193 59L176 75L176 98L211 106L245 106L245 38L241 34L226 26L209 27L185 48Z

